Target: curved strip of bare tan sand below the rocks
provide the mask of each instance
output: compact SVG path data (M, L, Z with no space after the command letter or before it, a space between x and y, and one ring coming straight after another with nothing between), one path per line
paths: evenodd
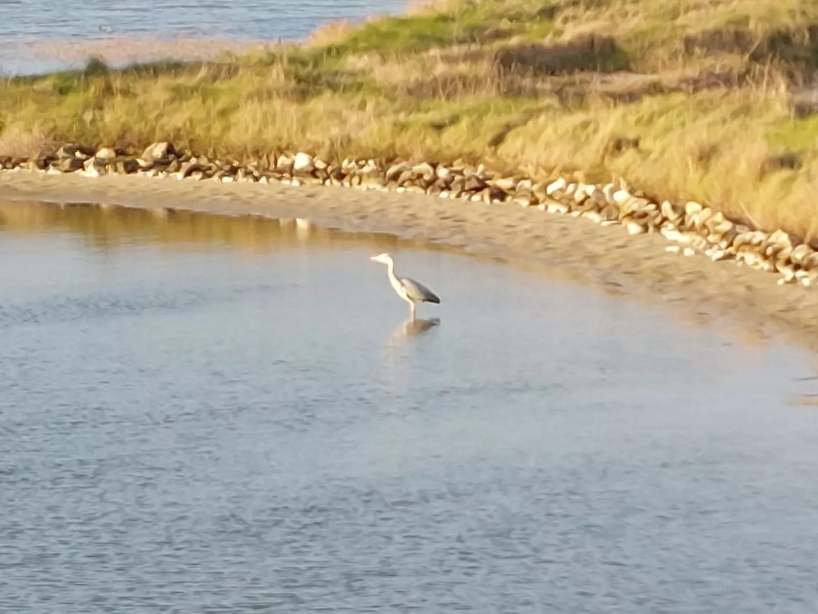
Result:
M214 183L110 175L0 174L0 198L94 202L148 209L308 218L343 230L426 238L591 284L633 300L671 305L697 323L739 321L744 332L784 332L818 349L818 291L779 286L769 273L665 251L660 235L629 236L586 219L517 205L484 205L343 187ZM547 314L543 314L546 318Z

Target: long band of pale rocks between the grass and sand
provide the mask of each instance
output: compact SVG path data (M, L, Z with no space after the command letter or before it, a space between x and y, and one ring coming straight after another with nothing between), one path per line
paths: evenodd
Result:
M632 235L660 233L674 243L667 251L702 254L711 260L779 275L779 283L818 285L818 252L781 230L765 233L735 223L696 202L658 202L627 184L597 185L566 178L535 181L496 176L483 166L438 165L408 161L382 165L375 160L329 163L303 151L248 164L209 160L178 151L168 142L146 147L140 156L111 147L94 149L67 143L52 154L33 158L0 158L0 170L29 169L50 174L142 174L221 182L338 185L358 189L418 192L453 200L537 207L551 214L569 214L605 226L621 225Z

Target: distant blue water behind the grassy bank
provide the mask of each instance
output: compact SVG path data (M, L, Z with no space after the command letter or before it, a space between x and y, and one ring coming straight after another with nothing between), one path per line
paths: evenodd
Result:
M142 43L142 53L158 46L155 38L181 38L185 43L178 48L188 52L205 48L196 47L197 39L216 40L219 47L230 41L300 39L326 21L362 20L373 13L402 12L406 6L406 0L2 0L0 74L76 67L83 65L85 48L121 55L117 47L139 47L134 40L141 38L148 41Z

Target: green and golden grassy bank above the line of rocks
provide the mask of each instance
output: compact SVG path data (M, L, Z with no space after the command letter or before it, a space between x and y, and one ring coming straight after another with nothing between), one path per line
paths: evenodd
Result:
M171 140L237 160L622 176L818 234L818 0L427 2L301 46L0 81L0 155ZM816 104L818 111L818 104Z

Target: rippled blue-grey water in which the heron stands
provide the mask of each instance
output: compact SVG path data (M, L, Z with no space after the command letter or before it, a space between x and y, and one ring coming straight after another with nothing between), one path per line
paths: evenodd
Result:
M0 262L2 612L815 612L799 350L253 219L0 205Z

